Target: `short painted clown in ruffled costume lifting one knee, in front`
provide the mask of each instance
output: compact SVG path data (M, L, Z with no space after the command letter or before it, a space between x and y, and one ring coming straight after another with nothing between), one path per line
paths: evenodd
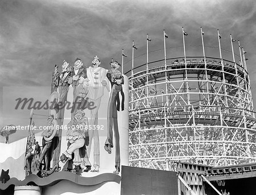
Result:
M74 153L73 172L78 172L80 169L88 172L92 167L86 153L86 146L89 144L87 126L88 119L82 110L78 110L71 122L68 123L68 149L61 155L60 160L65 163L65 161L72 159L72 153Z

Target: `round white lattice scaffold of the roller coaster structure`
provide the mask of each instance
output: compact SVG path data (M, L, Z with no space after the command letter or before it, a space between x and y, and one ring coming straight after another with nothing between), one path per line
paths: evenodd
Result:
M173 170L175 161L222 166L256 161L249 74L216 57L135 65L130 80L129 163ZM138 67L138 68L136 68Z

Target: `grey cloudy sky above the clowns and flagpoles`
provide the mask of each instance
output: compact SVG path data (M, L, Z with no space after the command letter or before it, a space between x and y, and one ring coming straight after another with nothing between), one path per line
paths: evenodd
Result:
M163 29L169 36L167 48L182 46L182 26L189 34L186 45L201 44L200 26L205 32L205 45L218 47L217 29L223 49L231 50L230 34L239 39L249 59L247 68L256 99L255 5L254 0L1 0L0 100L3 102L6 86L11 90L16 89L10 87L17 86L50 86L54 65L61 65L64 59L73 65L76 57L80 57L88 66L97 55L102 67L108 68L112 58L121 61L123 48L128 56L126 72L131 67L132 40L138 47L135 56L146 52L147 33L152 39L149 51L163 49ZM239 53L237 42L234 47ZM171 49L167 57L175 57ZM150 60L155 60L154 56ZM19 89L22 97L35 95L33 90ZM49 90L41 88L36 93L47 97ZM19 118L15 113L6 114L3 103L0 108L1 126ZM23 118L19 119L22 123L20 120Z

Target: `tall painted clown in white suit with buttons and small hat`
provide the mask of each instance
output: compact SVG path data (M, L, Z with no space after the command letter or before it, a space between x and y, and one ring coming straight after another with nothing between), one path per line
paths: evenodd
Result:
M106 77L106 69L99 67L101 64L97 56L94 57L92 61L92 66L87 69L87 81L88 81L88 94L86 97L89 98L89 102L94 102L94 109L90 111L90 126L98 125L98 109L101 104L101 97L104 95L104 88L109 91L108 78ZM92 146L92 139L94 140L94 169L92 172L98 172L100 168L100 143L97 128L89 129L89 146L88 146L88 156L90 156L90 149Z

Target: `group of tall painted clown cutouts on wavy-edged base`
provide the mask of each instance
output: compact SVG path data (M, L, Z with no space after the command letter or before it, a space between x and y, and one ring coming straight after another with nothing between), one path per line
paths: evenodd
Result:
M121 64L118 61L112 60L109 70L100 66L101 61L98 56L93 57L88 68L79 58L76 58L73 67L69 67L69 63L64 60L60 73L57 71L57 65L55 66L49 102L57 103L51 108L47 118L47 126L52 128L43 131L42 146L39 146L38 142L35 144L36 140L27 145L24 165L27 175L32 173L39 177L49 176L61 170L60 161L64 163L63 171L77 175L81 175L82 171L90 171L90 173L84 173L89 176L109 173L112 172L112 165L110 165L112 160L115 162L113 173L119 174L121 155L125 154L119 143L120 139L123 143L121 129L125 127L122 121L122 115L125 112L118 113L118 111L124 110L125 78L119 70ZM73 87L71 92L69 87ZM70 106L65 105L66 103L71 105L69 101L72 102L72 99L71 109ZM67 123L64 119L68 119ZM64 130L67 131L65 133L67 138L64 138L67 140L67 145L65 140L62 140L63 144L61 144L63 139L61 131ZM101 136L99 136L100 130ZM113 141L113 134L115 141ZM34 149L34 145L38 149ZM109 155L112 150L115 153L113 156ZM104 159L101 161L102 164L100 164L100 151L101 159ZM122 159L125 159L123 156ZM93 161L93 168L90 161ZM124 161L124 164L127 164L126 160Z

